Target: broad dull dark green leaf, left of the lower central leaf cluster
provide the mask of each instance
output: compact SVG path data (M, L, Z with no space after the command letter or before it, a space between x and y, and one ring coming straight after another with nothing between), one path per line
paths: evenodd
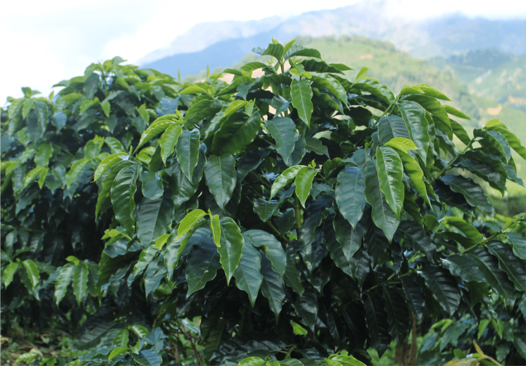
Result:
M167 198L144 197L137 209L137 237L148 247L151 241L166 233L174 212L174 202Z

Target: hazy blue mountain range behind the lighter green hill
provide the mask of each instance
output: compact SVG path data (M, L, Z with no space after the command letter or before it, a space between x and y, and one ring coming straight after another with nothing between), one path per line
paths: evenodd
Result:
M137 64L174 76L179 69L185 77L207 65L231 66L250 53L252 47L265 47L271 37L286 42L297 35L361 35L387 40L419 58L448 57L488 47L526 54L526 19L489 20L452 14L409 22L389 16L389 6L386 1L363 0L287 19L202 23L175 38L168 47L139 59Z

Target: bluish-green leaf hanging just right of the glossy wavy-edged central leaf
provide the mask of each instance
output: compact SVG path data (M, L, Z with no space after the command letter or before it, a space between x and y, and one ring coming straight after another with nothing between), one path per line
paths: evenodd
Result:
M250 242L245 242L245 245L242 247L239 267L236 268L234 277L236 278L236 286L248 294L252 308L254 308L259 288L263 281L260 269L261 257L259 251Z

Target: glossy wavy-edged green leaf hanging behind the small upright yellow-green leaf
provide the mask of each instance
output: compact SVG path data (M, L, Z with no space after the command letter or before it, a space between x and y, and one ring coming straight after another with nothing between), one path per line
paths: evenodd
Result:
M239 266L245 240L241 235L241 229L230 217L224 217L219 222L221 225L221 246L217 248L217 252L221 256L219 261L225 271L228 285L230 278Z

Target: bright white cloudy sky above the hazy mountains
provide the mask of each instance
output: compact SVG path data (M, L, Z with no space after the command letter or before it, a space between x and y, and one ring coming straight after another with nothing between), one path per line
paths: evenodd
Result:
M408 20L455 12L490 19L526 17L526 0L386 1L393 17ZM255 8L246 0L1 0L0 106L7 96L22 97L24 86L47 96L53 84L83 75L99 60L118 55L133 63L199 23L285 19L357 2L266 0Z

